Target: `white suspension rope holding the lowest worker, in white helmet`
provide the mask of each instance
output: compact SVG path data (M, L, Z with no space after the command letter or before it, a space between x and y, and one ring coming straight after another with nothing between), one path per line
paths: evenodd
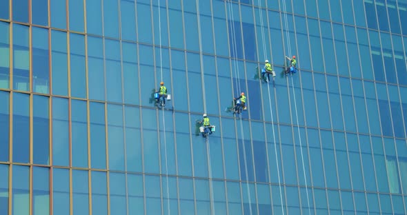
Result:
M190 0L187 0L190 1ZM197 17L198 17L198 35L199 35L199 59L201 63L201 81L202 81L202 96L203 96L203 112L206 113L206 92L205 92L205 78L203 75L203 51L202 51L202 35L201 35L201 13L199 12L199 0L197 1ZM206 156L208 157L208 171L209 171L209 190L210 190L210 209L213 214L215 214L215 198L213 194L213 181L212 181L212 162L210 161L210 144L209 144L209 136L206 136L206 145L208 148L208 153ZM212 214L211 213L211 214Z

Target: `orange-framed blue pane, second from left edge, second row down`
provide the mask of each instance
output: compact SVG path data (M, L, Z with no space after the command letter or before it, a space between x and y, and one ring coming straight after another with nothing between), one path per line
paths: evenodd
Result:
M30 90L30 32L26 25L13 24L13 89Z

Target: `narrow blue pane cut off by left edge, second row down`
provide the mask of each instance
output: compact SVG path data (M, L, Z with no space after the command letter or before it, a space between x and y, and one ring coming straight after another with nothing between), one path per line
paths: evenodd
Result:
M2 1L3 2L3 1ZM1 3L0 3L1 4ZM1 8L1 6L0 6ZM1 10L1 9L0 9ZM1 12L0 12L1 14ZM0 88L10 88L10 24L0 21Z

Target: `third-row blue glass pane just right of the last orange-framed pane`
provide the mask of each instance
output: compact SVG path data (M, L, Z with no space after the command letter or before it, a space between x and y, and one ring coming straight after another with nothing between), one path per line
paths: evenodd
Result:
M109 169L124 171L123 107L108 105Z

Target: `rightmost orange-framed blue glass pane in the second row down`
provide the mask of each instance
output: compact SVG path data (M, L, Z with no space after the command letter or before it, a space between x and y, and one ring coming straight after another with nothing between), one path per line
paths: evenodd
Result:
M85 37L70 34L70 95L86 99Z

